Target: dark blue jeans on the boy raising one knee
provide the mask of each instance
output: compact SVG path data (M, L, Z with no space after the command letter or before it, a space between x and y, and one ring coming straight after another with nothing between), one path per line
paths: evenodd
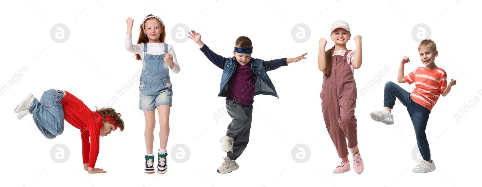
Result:
M383 107L393 109L393 105L395 105L395 97L407 107L408 114L414 124L418 150L420 150L420 154L424 160L430 161L430 147L428 146L427 135L425 134L430 111L424 106L414 102L408 91L389 81L385 84Z

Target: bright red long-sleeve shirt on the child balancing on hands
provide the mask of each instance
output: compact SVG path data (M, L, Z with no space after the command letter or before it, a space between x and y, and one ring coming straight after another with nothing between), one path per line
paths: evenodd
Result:
M102 117L100 114L92 112L71 93L67 91L65 93L64 99L60 101L64 109L64 119L70 125L80 129L83 163L89 163L89 167L94 168L97 155L99 155L100 128L103 125Z

